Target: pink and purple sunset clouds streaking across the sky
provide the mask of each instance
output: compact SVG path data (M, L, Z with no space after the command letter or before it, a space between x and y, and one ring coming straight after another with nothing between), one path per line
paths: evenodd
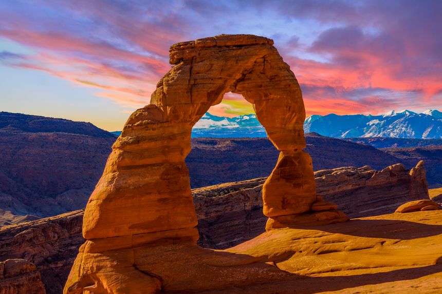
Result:
M199 34L206 32L228 33L242 25L247 33L250 28L249 19L233 15L235 7L243 5L235 1L171 2L167 6L104 0L17 3L16 7L12 2L2 4L8 9L0 9L0 36L37 53L10 56L6 65L45 71L97 88L97 95L130 107L149 102L156 82L171 67L170 45L195 35L204 37ZM278 49L301 84L308 113L441 107L438 13L442 6L425 0L403 3L308 0L269 5L252 1L247 9L256 15L272 11L287 18L287 25L297 19L318 23L317 28L310 28L317 34L312 44L299 35L269 31L281 38L275 44L282 44ZM211 21L213 29L204 27ZM215 29L218 23L225 24L225 31ZM228 112L233 107L250 111L248 105L241 96L228 93L216 111L231 116Z

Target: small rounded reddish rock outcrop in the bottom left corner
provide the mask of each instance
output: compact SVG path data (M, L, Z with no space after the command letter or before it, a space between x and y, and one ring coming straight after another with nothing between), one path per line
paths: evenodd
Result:
M40 272L24 259L0 261L0 293L45 294Z

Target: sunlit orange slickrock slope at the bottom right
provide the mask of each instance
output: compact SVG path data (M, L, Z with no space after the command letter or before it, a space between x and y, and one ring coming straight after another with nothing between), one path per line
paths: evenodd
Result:
M277 229L219 251L269 260L270 283L208 293L442 293L442 211Z

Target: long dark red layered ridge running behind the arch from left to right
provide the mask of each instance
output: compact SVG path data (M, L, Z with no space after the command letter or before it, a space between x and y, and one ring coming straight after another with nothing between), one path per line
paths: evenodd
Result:
M346 181L330 177L330 174L344 170L349 175ZM413 179L407 170L390 174L389 178L378 177L379 171L371 170L368 174L372 178L367 179L365 174L370 170L367 167L346 167L315 172L317 190L324 194L323 197L317 195L316 200L333 199L348 215L360 217L369 213L394 212L398 204L393 208L389 202L400 204L425 197L422 187L411 185ZM324 175L328 179L327 184L323 181ZM262 213L262 186L265 180L193 189L200 235L198 244L225 249L264 232L267 218ZM361 199L361 203L355 202L355 198ZM84 242L81 236L82 218L83 212L76 211L0 228L0 260L23 258L31 261L41 272L47 293L59 294L78 248Z

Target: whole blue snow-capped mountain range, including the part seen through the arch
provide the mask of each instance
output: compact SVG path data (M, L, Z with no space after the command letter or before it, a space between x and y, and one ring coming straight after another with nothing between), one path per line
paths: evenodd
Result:
M425 110L389 111L381 115L311 115L304 122L304 131L333 138L442 138L442 112ZM206 113L196 123L192 136L212 138L265 137L264 127L255 114L223 117Z

